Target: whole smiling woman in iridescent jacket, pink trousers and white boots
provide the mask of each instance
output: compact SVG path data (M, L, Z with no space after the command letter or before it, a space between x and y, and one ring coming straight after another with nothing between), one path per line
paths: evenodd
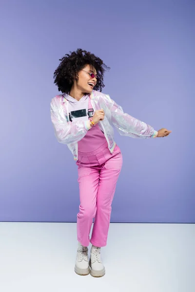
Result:
M100 249L107 244L111 204L122 167L112 125L121 135L138 139L164 137L171 131L163 128L157 132L124 113L108 94L99 92L104 87L104 71L110 68L94 54L78 49L60 61L54 77L63 94L51 101L51 120L59 143L68 145L78 165L80 205L75 272L100 277L105 274Z

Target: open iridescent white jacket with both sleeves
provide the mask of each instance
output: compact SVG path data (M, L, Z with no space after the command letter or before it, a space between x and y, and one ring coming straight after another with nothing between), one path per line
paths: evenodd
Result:
M108 94L93 90L90 93L90 98L94 111L104 110L104 120L99 121L99 127L104 132L111 153L116 146L112 124L117 128L120 135L140 139L157 137L158 132L154 128L124 113L122 108ZM50 104L51 120L58 142L67 144L74 155L74 159L78 160L78 141L85 136L91 126L89 120L70 122L68 103L65 93L53 97Z

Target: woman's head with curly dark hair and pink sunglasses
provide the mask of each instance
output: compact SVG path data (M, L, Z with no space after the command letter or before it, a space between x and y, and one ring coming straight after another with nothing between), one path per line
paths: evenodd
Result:
M54 83L59 91L73 93L78 88L83 93L90 93L93 89L101 91L104 87L104 72L110 67L107 67L99 57L85 50L78 49L70 53L71 55L66 54L59 59L61 62L54 72Z

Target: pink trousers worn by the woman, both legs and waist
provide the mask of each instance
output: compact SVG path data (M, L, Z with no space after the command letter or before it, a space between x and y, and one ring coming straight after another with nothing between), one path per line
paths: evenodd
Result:
M122 167L120 148L111 154L107 142L90 153L78 152L79 213L77 237L83 246L106 246L111 204ZM89 234L94 218L91 240Z

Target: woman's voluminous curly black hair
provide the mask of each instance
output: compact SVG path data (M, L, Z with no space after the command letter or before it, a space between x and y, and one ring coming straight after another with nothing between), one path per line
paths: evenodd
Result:
M62 93L69 93L74 80L78 81L78 72L89 64L91 69L93 67L96 69L98 75L94 90L101 91L105 86L103 84L104 72L110 67L107 67L100 58L85 50L77 49L70 53L71 55L66 54L59 59L61 62L54 72L54 83L58 86L58 90Z

